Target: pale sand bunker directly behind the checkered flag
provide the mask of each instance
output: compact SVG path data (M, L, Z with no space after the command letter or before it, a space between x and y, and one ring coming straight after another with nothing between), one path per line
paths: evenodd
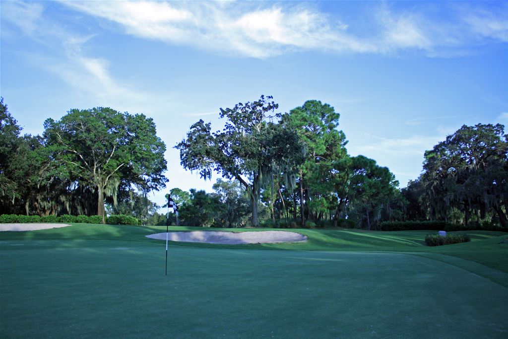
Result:
M166 232L146 235L147 238L166 240ZM206 242L220 244L268 243L268 242L300 242L307 241L307 236L288 231L190 231L169 232L168 239L182 242Z

